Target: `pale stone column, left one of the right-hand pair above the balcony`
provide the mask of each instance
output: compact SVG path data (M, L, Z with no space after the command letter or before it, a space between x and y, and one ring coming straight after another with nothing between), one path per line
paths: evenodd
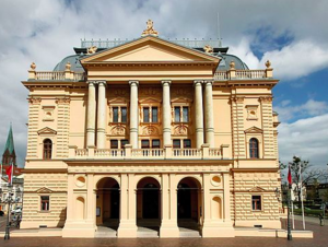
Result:
M195 129L196 148L200 149L203 144L203 110L202 110L202 81L195 81Z

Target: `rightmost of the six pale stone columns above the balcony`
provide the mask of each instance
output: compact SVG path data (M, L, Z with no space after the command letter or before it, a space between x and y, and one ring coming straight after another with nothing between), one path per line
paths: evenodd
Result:
M214 121L213 121L213 82L204 81L204 128L206 128L206 143L210 148L214 148Z

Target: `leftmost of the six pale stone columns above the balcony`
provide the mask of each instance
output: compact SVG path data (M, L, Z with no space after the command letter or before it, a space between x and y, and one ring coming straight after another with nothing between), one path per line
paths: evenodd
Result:
M95 98L95 83L87 82L89 95L87 95L87 116L86 116L86 148L95 145L95 111L96 111L96 98Z

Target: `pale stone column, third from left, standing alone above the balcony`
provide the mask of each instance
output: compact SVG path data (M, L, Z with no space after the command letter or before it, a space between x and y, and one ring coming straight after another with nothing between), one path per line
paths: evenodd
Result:
M130 84L130 144L138 149L138 81L129 81Z

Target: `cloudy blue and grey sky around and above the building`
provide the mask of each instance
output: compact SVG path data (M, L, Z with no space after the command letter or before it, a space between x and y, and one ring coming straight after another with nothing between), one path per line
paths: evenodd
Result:
M163 38L218 38L220 30L223 46L250 69L269 59L280 80L280 160L297 155L327 167L327 0L1 0L0 152L12 122L24 164L28 92L21 81L31 62L51 71L81 38L138 38L152 19Z

